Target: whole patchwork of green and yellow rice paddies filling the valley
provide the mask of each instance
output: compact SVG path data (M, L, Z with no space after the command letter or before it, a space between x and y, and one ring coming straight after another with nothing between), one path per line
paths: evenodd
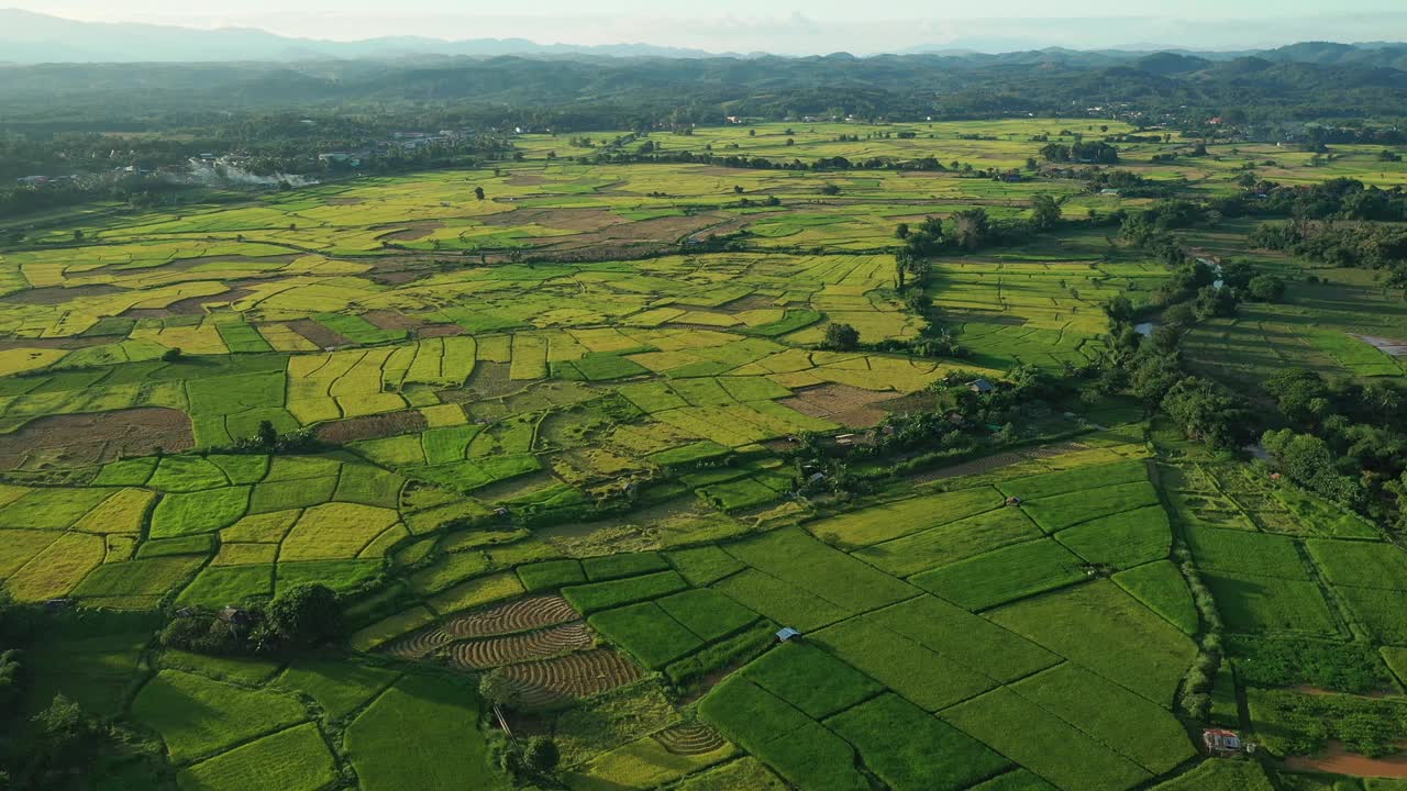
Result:
M1103 134L1033 118L651 141L1020 169L1062 131ZM159 777L113 787L507 790L490 673L514 738L552 738L573 791L1328 788L1282 774L1354 747L1314 711L1407 739L1401 549L1137 410L1057 415L1059 442L854 501L795 495L794 438L864 436L951 372L1088 362L1100 304L1168 276L1100 229L1059 231L934 262L924 289L968 359L819 349L832 324L917 335L896 224L1140 201L961 167L588 166L564 138L515 145L499 167L79 214L0 251L0 581L93 614L31 652L25 705L62 691L159 743ZM1152 160L1176 145L1128 145L1126 166L1217 193L1272 155ZM1283 182L1407 182L1366 151L1273 156ZM1240 255L1248 231L1197 243ZM1401 303L1318 274L1332 293L1292 283L1189 353L1247 381L1286 362L1401 376L1363 339L1407 338ZM311 441L253 452L263 424ZM160 612L300 583L339 591L336 653L152 642ZM1185 698L1210 619L1213 716L1265 747L1278 785L1203 760ZM1369 684L1324 673L1345 656Z

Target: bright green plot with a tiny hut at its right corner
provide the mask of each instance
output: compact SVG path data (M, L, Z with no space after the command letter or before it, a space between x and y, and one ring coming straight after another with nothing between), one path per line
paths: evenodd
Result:
M1059 543L1019 543L913 576L915 586L968 609L986 609L1086 577Z

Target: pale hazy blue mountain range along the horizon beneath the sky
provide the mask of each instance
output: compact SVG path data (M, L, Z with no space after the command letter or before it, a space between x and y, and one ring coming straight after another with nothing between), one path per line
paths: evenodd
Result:
M1000 52L992 55L989 52ZM523 38L476 38L446 41L425 37L388 37L363 41L290 38L256 28L196 30L129 23L83 23L48 14L0 8L0 62L35 63L184 63L184 62L308 62L416 58L758 58L760 53L705 52L615 44L578 46L536 44ZM1266 61L1354 65L1407 69L1407 44L1292 44L1276 49L1199 51L1137 44L1116 49L1036 48L1020 38L960 39L946 45L912 46L896 55L946 55L975 63L1059 63L1099 68L1128 65L1158 55L1150 70L1179 73L1197 70L1197 63L1227 62L1255 56ZM1178 61L1186 58L1188 61Z

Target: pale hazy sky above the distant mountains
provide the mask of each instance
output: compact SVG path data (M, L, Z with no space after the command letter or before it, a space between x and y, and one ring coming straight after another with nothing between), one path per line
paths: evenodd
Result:
M90 21L259 27L308 38L521 37L785 53L972 42L1214 49L1407 39L1404 0L0 0L7 3Z

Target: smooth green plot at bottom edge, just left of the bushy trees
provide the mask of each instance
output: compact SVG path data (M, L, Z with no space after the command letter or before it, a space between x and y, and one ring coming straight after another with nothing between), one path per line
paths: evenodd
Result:
M466 685L401 678L346 728L343 747L362 788L508 788L488 767L478 711Z

